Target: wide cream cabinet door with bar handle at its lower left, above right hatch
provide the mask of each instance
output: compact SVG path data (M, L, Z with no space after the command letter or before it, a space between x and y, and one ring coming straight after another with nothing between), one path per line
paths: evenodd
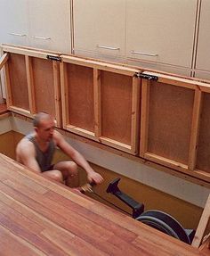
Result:
M190 67L197 0L128 0L126 56Z

